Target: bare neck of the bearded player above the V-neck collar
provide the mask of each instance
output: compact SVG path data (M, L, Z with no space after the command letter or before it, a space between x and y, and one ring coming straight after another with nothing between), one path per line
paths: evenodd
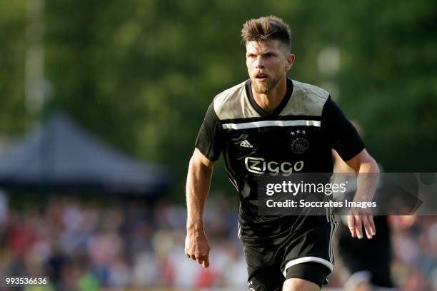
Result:
M266 93L257 93L253 90L252 95L259 107L263 108L263 111L267 113L273 113L279 103L281 103L285 93L287 91L287 76L283 76L280 81L274 86L271 91Z

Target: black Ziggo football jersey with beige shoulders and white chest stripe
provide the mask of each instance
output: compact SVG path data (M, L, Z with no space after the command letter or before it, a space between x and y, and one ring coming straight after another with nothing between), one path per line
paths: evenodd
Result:
M328 92L288 78L286 95L273 113L258 106L250 80L218 94L196 148L213 161L223 153L240 200L241 238L252 240L279 235L288 228L281 221L291 223L290 218L258 215L259 175L332 173L331 148L350 160L364 144Z

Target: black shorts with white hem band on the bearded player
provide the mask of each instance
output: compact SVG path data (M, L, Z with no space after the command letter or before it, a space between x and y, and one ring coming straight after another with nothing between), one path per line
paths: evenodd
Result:
M281 290L289 278L301 278L319 287L333 270L333 218L324 223L291 230L281 243L243 242L251 291Z

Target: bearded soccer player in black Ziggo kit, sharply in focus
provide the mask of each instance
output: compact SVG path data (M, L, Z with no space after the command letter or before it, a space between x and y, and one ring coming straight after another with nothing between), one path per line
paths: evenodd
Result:
M258 175L332 173L331 148L356 173L378 166L328 92L287 78L295 58L287 24L275 16L251 19L241 36L250 78L214 98L189 163L186 256L209 266L203 212L214 161L223 153L240 199L249 290L320 290L333 270L333 217L258 215ZM357 196L373 190L360 183ZM371 213L352 214L354 237L363 238L363 228L368 238L375 235Z

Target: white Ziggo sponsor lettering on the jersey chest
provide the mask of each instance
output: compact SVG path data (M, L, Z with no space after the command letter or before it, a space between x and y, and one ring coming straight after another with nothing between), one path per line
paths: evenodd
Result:
M303 168L303 160L299 160L293 164L289 162L278 163L274 160L266 161L264 158L246 157L244 164L246 165L246 169L251 173L271 173L272 175L281 173L284 176L291 175L293 172L299 172Z

